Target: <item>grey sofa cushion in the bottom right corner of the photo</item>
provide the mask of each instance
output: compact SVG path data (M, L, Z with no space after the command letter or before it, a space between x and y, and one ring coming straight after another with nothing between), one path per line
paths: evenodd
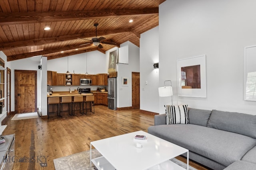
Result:
M256 164L253 164L251 162L246 162L243 160L238 160L232 163L230 166L228 166L224 170L255 170L255 169L256 169Z

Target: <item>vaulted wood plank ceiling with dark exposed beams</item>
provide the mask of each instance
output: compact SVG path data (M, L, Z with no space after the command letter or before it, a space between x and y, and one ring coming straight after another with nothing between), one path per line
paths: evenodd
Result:
M158 6L164 1L0 0L0 51L7 61L14 61L37 55L56 59L86 51L105 53L126 41L139 47L140 34L158 26ZM84 40L96 36L94 23L99 24L97 37L116 44L102 43L99 48ZM46 26L50 30L44 30Z

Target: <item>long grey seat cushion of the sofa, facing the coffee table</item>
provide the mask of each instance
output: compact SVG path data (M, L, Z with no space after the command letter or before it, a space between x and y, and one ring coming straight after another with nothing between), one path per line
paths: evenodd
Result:
M193 124L150 126L148 133L228 166L256 145L256 139Z

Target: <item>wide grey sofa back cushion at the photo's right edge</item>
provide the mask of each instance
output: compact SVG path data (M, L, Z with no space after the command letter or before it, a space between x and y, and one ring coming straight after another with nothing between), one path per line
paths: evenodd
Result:
M207 127L256 138L256 115L212 110Z

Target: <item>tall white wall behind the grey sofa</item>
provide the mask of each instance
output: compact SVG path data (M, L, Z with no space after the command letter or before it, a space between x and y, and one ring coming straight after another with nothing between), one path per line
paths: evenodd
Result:
M256 115L244 101L244 47L256 45L255 0L167 0L159 7L159 82L174 104ZM176 61L206 55L207 98L177 97ZM164 113L160 99L160 113Z

